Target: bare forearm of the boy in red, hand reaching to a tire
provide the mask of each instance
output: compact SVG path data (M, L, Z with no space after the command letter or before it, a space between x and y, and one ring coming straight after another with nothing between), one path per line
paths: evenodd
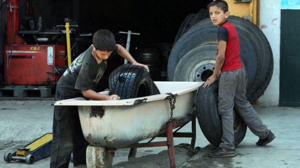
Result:
M221 67L223 66L224 60L225 60L225 51L226 51L226 41L219 40L218 41L218 54L215 59L215 66L213 70L213 74L206 80L206 82L203 85L203 88L209 87L211 84L213 84L216 80L216 77L218 76Z

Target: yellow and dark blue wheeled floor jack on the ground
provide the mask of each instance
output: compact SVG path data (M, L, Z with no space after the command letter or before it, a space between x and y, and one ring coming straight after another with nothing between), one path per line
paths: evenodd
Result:
M50 156L51 146L52 133L47 133L12 154L4 154L4 161L25 161L26 164L32 164L34 161Z

